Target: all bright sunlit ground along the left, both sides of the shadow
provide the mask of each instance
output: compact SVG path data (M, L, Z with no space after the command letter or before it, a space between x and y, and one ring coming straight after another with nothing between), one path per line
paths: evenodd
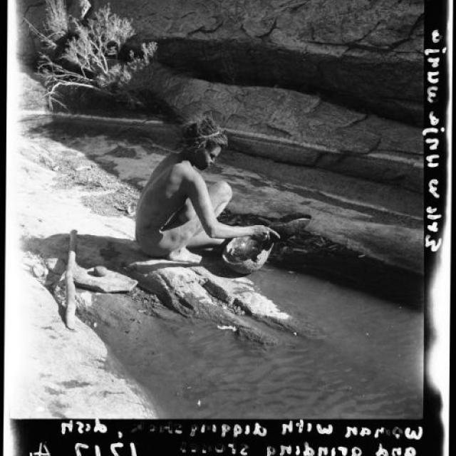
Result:
M133 220L94 214L82 202L87 190L61 188L58 172L43 165L50 158L47 150L21 138L14 152L9 239L19 237L24 250L11 254L10 247L6 276L11 418L156 418L150 398L123 375L92 328L81 321L76 331L66 328L62 309L44 286L52 266L27 247L31 239L71 229L130 237ZM19 271L14 259L19 259Z

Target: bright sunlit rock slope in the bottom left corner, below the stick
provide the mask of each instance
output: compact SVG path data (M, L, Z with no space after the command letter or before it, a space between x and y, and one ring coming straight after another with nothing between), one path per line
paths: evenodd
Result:
M120 373L91 328L76 320L76 331L68 331L36 279L24 272L21 285L7 303L16 328L8 340L15 358L6 357L11 418L157 418L151 399Z

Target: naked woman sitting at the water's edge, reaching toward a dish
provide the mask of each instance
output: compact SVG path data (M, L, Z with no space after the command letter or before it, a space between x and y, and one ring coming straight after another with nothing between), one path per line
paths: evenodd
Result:
M251 235L268 237L263 225L230 227L217 220L232 198L231 187L220 181L207 186L206 170L228 144L227 136L210 118L187 125L184 146L170 153L153 170L136 209L136 240L151 257L199 263L187 247L217 246L224 239Z

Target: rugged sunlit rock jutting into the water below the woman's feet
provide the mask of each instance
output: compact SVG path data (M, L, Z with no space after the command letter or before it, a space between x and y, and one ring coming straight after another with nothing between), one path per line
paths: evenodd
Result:
M249 340L276 343L274 334L259 321L295 336L322 336L316 326L296 321L281 311L254 288L251 280L230 276L219 259L204 260L201 266L182 267L165 266L160 259L150 259L130 264L128 269L142 288L157 294L168 308L183 316L234 326Z

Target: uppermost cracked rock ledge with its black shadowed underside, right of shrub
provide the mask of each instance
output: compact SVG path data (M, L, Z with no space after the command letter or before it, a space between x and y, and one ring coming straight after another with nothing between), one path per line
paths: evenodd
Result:
M97 0L98 5L108 1ZM162 63L422 123L423 1L110 0Z

